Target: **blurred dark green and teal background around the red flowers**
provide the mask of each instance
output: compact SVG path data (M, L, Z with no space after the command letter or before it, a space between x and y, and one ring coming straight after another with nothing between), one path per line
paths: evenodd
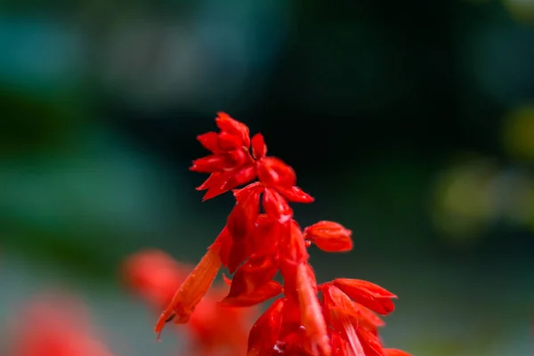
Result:
M117 355L173 354L117 268L223 227L188 167L224 110L317 199L299 222L354 231L318 278L400 296L386 344L534 354L533 0L6 0L0 108L0 333L64 288Z

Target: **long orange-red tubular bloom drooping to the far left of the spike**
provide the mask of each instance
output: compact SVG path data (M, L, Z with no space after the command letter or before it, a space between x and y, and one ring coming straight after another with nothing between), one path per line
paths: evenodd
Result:
M182 286L176 291L173 300L161 313L156 324L155 332L159 335L166 322L174 320L175 324L182 324L190 319L190 315L206 295L207 289L212 285L217 272L221 268L218 245L213 245L202 257L198 265L183 281Z

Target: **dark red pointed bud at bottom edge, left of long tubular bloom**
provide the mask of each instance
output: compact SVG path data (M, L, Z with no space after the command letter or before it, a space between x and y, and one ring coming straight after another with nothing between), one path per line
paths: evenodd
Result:
M248 336L247 356L269 355L279 340L282 328L282 310L286 299L277 299L256 320Z

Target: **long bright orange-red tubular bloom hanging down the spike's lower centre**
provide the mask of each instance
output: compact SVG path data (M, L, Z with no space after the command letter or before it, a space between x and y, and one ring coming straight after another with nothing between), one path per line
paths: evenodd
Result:
M296 269L296 284L301 322L309 342L305 346L312 355L330 356L332 350L328 339L327 324L320 310L317 291L312 287L309 270L304 263L299 264Z

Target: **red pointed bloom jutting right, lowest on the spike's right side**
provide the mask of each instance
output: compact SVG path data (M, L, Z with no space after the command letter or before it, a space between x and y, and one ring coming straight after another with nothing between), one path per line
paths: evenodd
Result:
M392 298L397 298L397 295L367 280L334 279L333 284L349 295L353 301L368 307L373 312L387 315L395 309Z

